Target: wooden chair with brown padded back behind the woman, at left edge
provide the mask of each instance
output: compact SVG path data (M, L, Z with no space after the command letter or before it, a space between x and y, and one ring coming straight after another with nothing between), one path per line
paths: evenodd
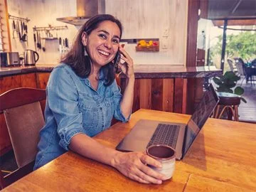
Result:
M4 112L18 165L16 171L6 176L0 171L0 188L9 186L33 171L39 131L45 124L45 100L46 90L25 87L9 90L0 95L0 113Z

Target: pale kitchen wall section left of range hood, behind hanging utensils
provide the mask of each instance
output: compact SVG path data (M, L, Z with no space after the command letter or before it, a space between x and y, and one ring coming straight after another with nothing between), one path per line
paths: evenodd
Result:
M64 3L65 2L65 3ZM25 42L19 41L17 33L12 33L12 20L9 21L11 29L11 47L13 51L18 51L21 55L26 49L35 49L35 43L33 41L33 27L44 27L49 24L52 26L65 26L65 23L56 21L56 18L72 15L75 16L76 4L73 0L9 0L8 1L9 14L14 16L20 16L29 18L31 21L28 22L28 45ZM54 31L53 35L58 37L68 38L70 41L73 40L74 34L78 31L75 26L68 25L68 30L65 31ZM41 37L46 36L45 33L41 33ZM54 41L43 41L42 45L46 47L46 52L43 50L37 50L39 53L38 63L58 63L60 53L58 51L58 40Z

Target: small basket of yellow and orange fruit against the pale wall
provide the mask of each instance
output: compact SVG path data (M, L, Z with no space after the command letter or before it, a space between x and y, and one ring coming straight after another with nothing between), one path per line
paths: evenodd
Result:
M137 43L136 51L157 52L159 51L159 41L145 41L142 39Z

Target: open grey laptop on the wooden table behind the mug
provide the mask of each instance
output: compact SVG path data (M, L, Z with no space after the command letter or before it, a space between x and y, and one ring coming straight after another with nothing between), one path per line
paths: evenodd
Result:
M145 151L152 144L166 144L176 149L176 159L181 160L218 101L218 95L213 85L210 84L187 124L141 119L119 142L116 149L118 151Z

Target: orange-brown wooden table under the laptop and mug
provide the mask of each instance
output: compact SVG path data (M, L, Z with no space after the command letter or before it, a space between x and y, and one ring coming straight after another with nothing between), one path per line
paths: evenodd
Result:
M95 139L114 148L139 119L187 122L189 115L139 110ZM3 191L255 191L256 126L208 119L176 171L161 185L132 181L97 161L67 152Z

